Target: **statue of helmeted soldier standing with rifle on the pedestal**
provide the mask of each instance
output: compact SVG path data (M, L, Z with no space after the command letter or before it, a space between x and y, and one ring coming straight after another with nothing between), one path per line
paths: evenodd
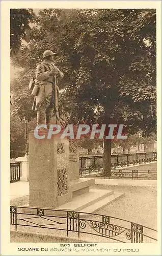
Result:
M32 110L37 110L37 125L47 124L49 126L53 112L56 123L60 123L58 110L59 87L58 81L62 80L64 74L53 63L53 53L46 50L43 53L43 61L37 65L36 79L38 80L38 91L35 95Z

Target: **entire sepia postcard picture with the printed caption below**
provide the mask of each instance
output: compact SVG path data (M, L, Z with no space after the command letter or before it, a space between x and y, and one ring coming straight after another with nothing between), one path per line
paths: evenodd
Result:
M10 8L14 255L160 242L157 86L156 7Z

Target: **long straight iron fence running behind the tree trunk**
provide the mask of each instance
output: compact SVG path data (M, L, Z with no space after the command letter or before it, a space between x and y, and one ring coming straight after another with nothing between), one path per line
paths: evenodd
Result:
M111 167L129 166L146 162L156 161L157 153L136 153L136 154L120 154L111 156ZM79 157L79 169L82 170L99 170L103 167L103 155Z

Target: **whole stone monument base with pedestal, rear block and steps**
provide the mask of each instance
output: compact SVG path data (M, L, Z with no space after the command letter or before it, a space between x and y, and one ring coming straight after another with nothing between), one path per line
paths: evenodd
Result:
M29 134L30 207L94 212L119 198L114 191L90 188L95 179L79 178L79 157L76 141L52 136L41 131L44 139ZM20 159L19 159L20 160ZM31 208L25 211L33 212ZM66 216L66 211L62 211ZM51 211L55 215L55 211Z

